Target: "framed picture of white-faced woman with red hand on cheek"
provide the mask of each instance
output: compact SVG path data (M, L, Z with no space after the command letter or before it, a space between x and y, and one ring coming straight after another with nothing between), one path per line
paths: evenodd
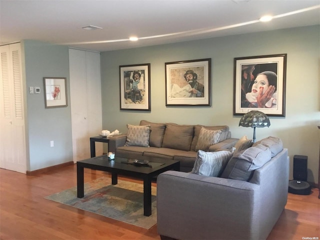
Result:
M233 115L285 116L286 54L234 58Z

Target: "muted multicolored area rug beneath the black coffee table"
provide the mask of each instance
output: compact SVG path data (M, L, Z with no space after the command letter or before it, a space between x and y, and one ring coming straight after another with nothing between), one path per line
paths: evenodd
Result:
M84 183L84 197L77 198L76 186L44 198L149 229L156 223L156 187L151 186L151 215L143 215L143 184L100 177Z

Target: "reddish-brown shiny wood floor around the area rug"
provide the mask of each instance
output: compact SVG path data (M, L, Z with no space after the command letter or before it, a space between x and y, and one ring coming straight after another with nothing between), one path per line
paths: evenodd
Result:
M84 169L85 181L105 175ZM156 225L146 230L43 198L75 185L75 164L36 176L0 169L0 239L160 239ZM288 193L267 239L320 239L318 193Z

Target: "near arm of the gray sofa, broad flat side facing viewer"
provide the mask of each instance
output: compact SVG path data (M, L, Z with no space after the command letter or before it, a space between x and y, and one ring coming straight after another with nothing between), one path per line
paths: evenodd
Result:
M258 239L259 200L258 184L166 171L157 177L157 230L175 239Z

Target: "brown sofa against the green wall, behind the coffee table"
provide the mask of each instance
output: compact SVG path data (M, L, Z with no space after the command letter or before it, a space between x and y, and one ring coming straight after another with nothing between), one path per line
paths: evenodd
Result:
M169 158L180 161L180 171L192 170L197 156L197 141L201 128L208 130L221 130L218 143L210 145L206 151L229 149L235 145L238 138L231 138L227 125L179 125L175 123L154 123L146 120L140 121L140 126L150 126L149 146L125 145L127 134L112 136L109 139L109 151L115 156L149 159L150 157Z

